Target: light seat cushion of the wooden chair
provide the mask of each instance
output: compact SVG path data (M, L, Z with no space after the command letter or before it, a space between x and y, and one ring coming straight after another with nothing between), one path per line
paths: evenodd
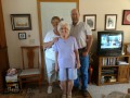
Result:
M23 70L22 73L20 74L20 76L23 76L23 75L31 75L31 74L40 74L40 70L39 70L39 69L27 69L27 70Z

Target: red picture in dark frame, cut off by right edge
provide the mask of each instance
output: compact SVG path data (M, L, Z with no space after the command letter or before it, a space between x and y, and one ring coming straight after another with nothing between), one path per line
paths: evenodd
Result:
M130 25L130 10L123 10L122 25Z

